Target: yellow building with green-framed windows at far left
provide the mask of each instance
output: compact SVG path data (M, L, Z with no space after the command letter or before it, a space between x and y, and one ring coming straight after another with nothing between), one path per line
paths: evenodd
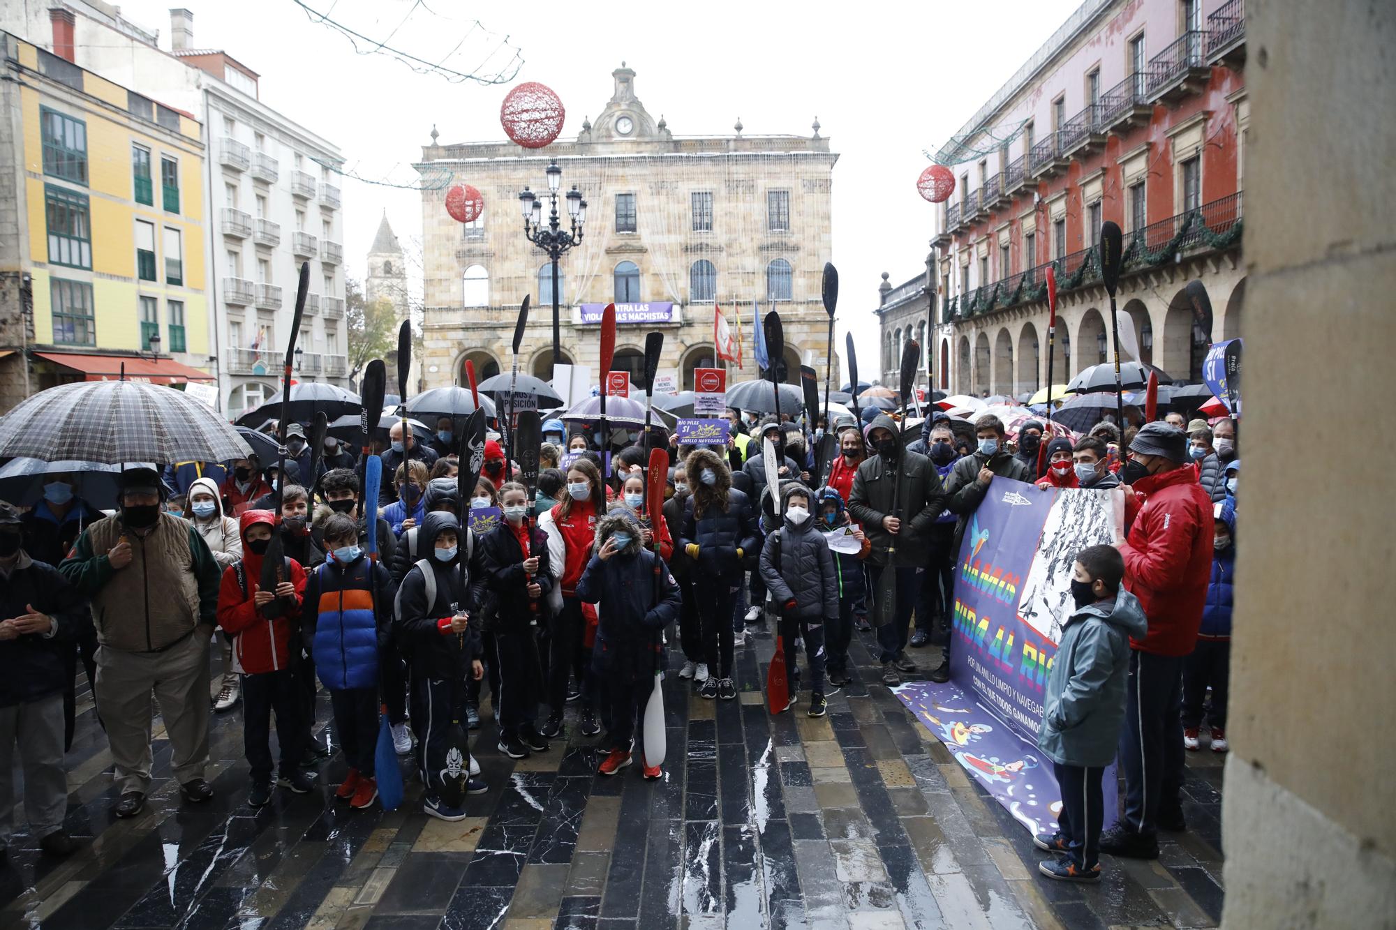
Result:
M0 412L123 364L212 383L198 120L0 42Z

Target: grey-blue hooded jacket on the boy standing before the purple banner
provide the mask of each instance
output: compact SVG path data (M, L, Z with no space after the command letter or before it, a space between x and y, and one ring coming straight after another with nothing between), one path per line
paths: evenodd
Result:
M1143 638L1148 630L1139 600L1124 588L1114 602L1096 602L1067 619L1037 733L1037 748L1047 758L1090 768L1115 760L1125 716L1129 637Z

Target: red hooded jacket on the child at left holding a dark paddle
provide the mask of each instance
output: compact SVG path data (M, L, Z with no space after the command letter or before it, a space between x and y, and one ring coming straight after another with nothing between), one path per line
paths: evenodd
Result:
M306 571L300 563L290 559L290 584L296 586L295 603L282 616L268 620L253 602L255 585L261 581L262 559L247 547L247 528L254 524L274 525L269 510L248 510L239 517L239 533L243 536L243 560L223 570L218 589L218 626L233 637L237 662L247 674L279 672L290 665L290 631L300 616L300 603L306 592ZM275 532L275 531L274 531ZM239 578L242 573L242 580ZM243 584L247 591L243 591Z

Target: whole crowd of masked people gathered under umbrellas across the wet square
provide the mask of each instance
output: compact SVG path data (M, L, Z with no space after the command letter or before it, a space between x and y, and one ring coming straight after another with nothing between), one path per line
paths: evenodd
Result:
M328 440L313 457L299 425L283 466L130 468L112 514L84 501L73 475L50 476L27 511L0 504L0 807L13 807L18 746L34 834L46 853L73 852L63 753L80 663L110 744L117 817L137 815L151 789L152 695L187 803L212 796L211 709L239 705L248 803L267 804L276 786L313 790L329 754L314 736L322 686L348 764L338 799L376 803L381 712L395 751L415 757L424 811L459 820L431 760L480 728L486 688L497 751L524 758L550 751L568 726L604 730L599 772L616 775L632 764L667 654L701 698L734 700L736 649L768 617L792 670L789 702L803 697L811 716L854 679L853 634L874 624L882 684L923 665L945 681L955 553L991 483L1011 479L1125 497L1125 540L1075 566L1078 610L1040 737L1064 789L1061 832L1039 845L1062 853L1053 869L1067 878L1097 877L1101 850L1156 856L1157 831L1182 828L1182 760L1202 746L1203 719L1210 748L1226 750L1235 422L1170 413L1124 433L1104 422L1072 441L1029 420L1011 443L997 416L937 415L907 443L899 418L866 412L831 425L838 455L821 473L822 425L727 415L726 445L680 447L656 430L604 452L593 430L547 420L533 486L491 436L469 500L447 418L424 441L394 423L376 500L364 500L352 450ZM645 487L651 444L670 455L662 501ZM500 519L477 533L472 514L484 508ZM264 564L276 549L283 561ZM895 607L877 603L878 591L895 591ZM1124 815L1101 836L1100 776L1117 755ZM468 764L468 790L487 790L473 755ZM663 775L642 751L639 768Z

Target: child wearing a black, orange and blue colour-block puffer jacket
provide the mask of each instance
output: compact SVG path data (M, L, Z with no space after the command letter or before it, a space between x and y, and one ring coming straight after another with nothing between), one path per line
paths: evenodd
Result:
M335 796L362 809L378 796L378 649L388 631L392 578L364 556L352 517L329 517L324 540L329 559L306 582L304 640L329 691L335 733L349 762Z

